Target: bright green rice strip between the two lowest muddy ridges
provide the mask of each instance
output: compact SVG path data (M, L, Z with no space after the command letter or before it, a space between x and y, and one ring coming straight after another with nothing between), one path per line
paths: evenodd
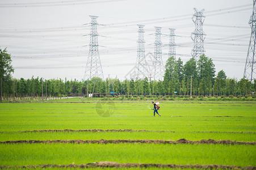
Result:
M221 164L255 166L251 145L15 144L0 145L1 165L85 164L93 162Z

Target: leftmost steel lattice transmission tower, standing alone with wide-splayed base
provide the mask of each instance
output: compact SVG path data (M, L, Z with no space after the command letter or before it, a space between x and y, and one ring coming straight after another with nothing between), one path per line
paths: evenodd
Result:
M97 32L97 25L96 18L98 16L91 16L91 32L90 32L90 50L89 56L86 63L85 68L85 76L84 80L91 79L93 77L99 77L104 79L102 65L100 63L99 58L99 49L98 49L98 32Z

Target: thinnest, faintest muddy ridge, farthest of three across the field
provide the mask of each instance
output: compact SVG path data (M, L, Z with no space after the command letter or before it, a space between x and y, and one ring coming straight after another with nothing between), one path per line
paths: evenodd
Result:
M81 130L72 130L72 129L49 129L49 130L24 130L24 131L0 131L0 133L31 133L31 132L82 132L82 131L89 131L89 132L133 132L133 131L149 131L149 132L171 132L175 133L175 131L165 131L165 130L132 130L132 129L110 129L110 130L102 130L102 129L81 129ZM192 133L256 133L254 131L191 131Z

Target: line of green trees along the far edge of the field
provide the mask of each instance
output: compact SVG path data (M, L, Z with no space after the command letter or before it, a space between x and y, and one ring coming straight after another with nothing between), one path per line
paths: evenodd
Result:
M6 49L1 50L2 56L6 55ZM7 58L6 57L6 58ZM2 57L3 58L3 57ZM1 61L0 61L1 62ZM8 64L6 64L8 65ZM1 63L2 66L2 63ZM26 97L26 96L74 96L87 94L109 95L115 92L117 95L158 95L158 96L237 96L249 95L255 93L256 81L251 83L242 78L240 80L227 78L223 70L215 74L215 65L211 58L204 54L198 61L191 58L186 63L172 56L167 59L165 65L165 74L163 80L152 80L150 77L144 79L125 79L118 78L91 80L67 80L67 79L14 79L10 73L13 73L12 67L9 68L9 74L3 74L4 68L0 68L1 90L5 97ZM159 78L161 79L161 78Z

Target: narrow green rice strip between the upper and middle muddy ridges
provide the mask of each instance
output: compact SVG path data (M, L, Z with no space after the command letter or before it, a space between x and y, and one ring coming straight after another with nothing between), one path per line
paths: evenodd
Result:
M255 133L215 133L215 132L192 132L192 131L44 131L44 132L5 132L0 133L0 141L20 141L20 140L100 140L100 139L152 139L177 141L186 138L190 141L200 141L202 139L231 140L241 142L254 142Z

